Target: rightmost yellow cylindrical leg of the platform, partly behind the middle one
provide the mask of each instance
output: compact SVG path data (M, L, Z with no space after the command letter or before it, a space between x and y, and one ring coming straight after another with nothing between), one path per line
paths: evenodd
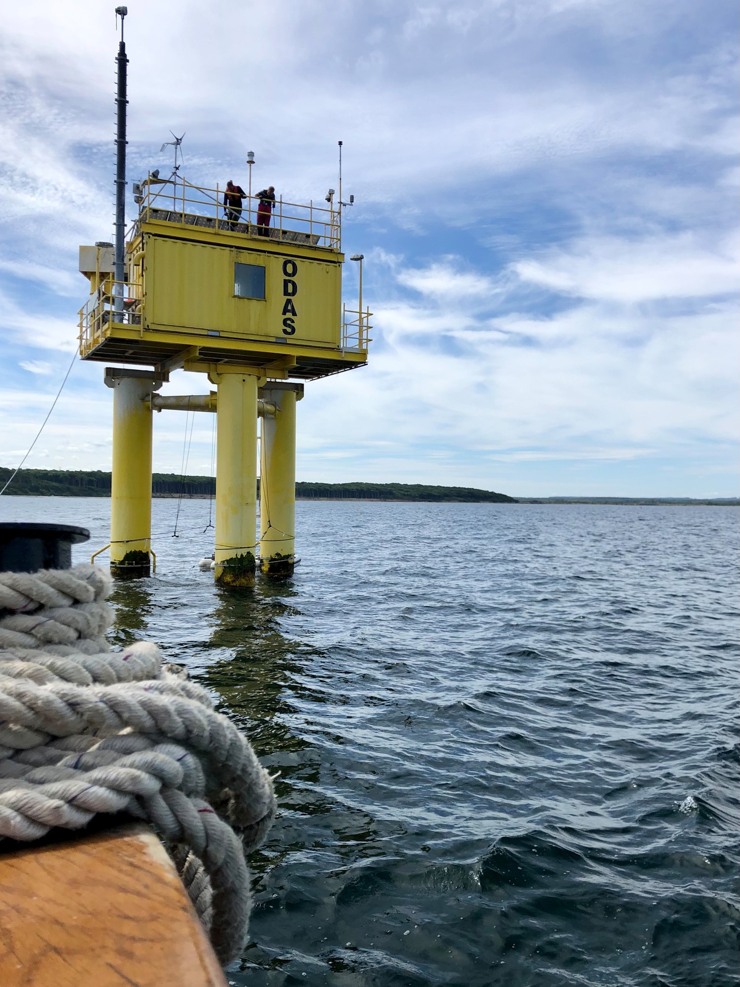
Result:
M275 409L262 418L259 480L259 569L289 576L295 566L295 403L300 385L267 385L259 391Z

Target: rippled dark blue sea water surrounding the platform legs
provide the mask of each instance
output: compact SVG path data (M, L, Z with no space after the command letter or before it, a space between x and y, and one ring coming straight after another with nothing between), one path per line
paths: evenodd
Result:
M241 594L176 509L115 638L281 772L231 983L737 983L736 509L301 502L295 579Z

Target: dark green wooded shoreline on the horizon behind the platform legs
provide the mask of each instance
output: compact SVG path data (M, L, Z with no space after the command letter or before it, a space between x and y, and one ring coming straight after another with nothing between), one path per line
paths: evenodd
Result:
M13 471L0 467L0 485ZM427 484L328 484L295 485L299 498L325 500L427 500L475 503L517 503L505 493L481 491L473 487L441 487ZM258 481L259 491L259 481ZM153 473L152 495L212 496L214 477L181 477L176 473ZM5 492L16 496L111 496L111 474L102 470L19 470Z

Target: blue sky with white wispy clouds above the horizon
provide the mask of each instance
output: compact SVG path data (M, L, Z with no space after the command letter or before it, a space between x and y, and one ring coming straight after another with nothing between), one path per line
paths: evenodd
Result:
M112 239L114 3L0 31L0 465L70 365ZM736 496L734 0L132 0L128 179L185 131L194 183L335 187L374 313L367 367L309 382L297 478L521 496ZM128 215L133 213L129 198ZM344 297L356 298L347 264ZM162 393L205 393L174 373ZM185 415L155 418L180 473ZM194 419L186 472L210 471ZM111 466L77 360L27 467Z

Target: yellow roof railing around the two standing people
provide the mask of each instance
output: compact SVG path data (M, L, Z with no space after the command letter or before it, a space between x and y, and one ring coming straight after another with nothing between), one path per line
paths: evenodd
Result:
M245 195L242 207L235 209L224 205L225 189L194 186L179 176L163 180L150 175L133 188L139 214L127 233L128 239L136 236L142 222L164 220L304 247L341 249L341 210L334 209L333 202L329 206L316 205L312 199L305 205L283 201L279 196L269 215L269 225L265 226L261 225L265 213L259 213L256 195Z

